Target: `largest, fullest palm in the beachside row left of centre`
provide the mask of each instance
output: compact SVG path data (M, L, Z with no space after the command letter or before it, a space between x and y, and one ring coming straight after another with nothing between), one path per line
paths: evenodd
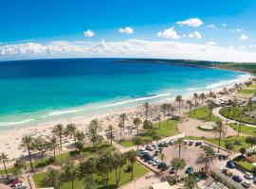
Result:
M87 136L89 140L92 142L93 146L96 146L99 142L101 142L102 137L99 135L99 132L102 130L101 122L98 119L93 119L87 130Z

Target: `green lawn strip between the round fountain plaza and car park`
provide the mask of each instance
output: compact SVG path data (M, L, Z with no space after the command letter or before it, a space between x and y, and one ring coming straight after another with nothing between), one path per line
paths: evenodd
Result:
M193 140L200 140L202 138L200 137L195 137L195 136L187 136L185 137L186 139L193 139ZM245 148L248 148L250 147L249 145L247 145L247 143L245 142L246 140L246 136L232 136L232 137L229 137L229 138L225 138L225 139L222 139L221 140L221 143L220 143L220 146L224 147L225 148L225 144L226 142L230 142L230 143L235 143L235 141L240 141L241 142L241 145L240 146L234 146L234 151L236 152L239 152L239 149L242 148L242 147L245 147ZM218 146L219 145L219 140L217 138L204 138L203 140L213 144L213 145L216 145Z

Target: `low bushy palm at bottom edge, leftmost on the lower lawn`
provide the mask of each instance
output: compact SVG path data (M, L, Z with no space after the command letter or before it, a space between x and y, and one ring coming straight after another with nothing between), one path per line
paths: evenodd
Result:
M60 189L62 185L62 173L59 169L49 167L46 171L46 177L44 182L46 185L52 186L54 189Z

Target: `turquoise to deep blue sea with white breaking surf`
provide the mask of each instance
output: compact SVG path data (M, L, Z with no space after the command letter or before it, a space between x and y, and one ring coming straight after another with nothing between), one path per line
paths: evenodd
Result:
M119 59L0 62L0 127L172 99L246 77L239 72Z

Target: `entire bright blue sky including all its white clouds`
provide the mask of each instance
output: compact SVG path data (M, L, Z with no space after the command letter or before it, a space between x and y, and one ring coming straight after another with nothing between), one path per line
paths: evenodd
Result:
M0 60L256 62L255 0L0 0Z

